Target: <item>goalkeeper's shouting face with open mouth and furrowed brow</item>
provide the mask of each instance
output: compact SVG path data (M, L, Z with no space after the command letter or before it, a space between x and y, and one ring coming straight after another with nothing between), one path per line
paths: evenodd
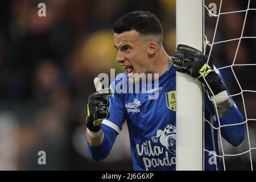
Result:
M114 34L114 47L118 50L117 61L128 76L148 72L150 60L147 54L148 42L144 36L135 30Z

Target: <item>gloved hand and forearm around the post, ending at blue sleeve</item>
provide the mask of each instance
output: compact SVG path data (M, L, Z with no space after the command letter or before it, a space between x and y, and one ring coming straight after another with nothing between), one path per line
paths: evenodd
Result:
M212 99L215 98L213 106L214 108L217 106L218 116L222 117L232 109L233 103L228 97L219 72L214 71L212 57L209 52L209 45L205 48L205 54L195 48L179 45L174 54L174 67L176 71L185 72L198 78L207 88L209 96ZM214 102L216 102L216 105Z

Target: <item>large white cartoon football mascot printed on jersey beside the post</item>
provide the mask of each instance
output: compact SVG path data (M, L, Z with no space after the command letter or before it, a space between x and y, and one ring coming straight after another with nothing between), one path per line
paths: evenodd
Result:
M156 136L152 137L152 142L157 143L158 139L162 146L171 152L172 155L176 155L176 127L167 125L164 130L156 131Z

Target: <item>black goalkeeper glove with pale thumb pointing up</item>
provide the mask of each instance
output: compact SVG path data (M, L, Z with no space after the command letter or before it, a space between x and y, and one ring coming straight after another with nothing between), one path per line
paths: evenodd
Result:
M109 118L109 100L106 98L112 96L112 90L102 89L100 79L94 78L96 92L88 98L86 126L93 133L101 129L103 119Z

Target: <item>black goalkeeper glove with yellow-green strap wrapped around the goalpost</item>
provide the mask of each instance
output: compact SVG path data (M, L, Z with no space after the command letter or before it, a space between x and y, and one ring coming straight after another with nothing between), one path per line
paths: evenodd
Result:
M193 47L179 44L173 56L174 68L177 72L188 73L207 86L210 96L214 96L225 90L224 82L220 75L213 70L212 56L209 55L210 46L207 45L205 54ZM209 57L209 61L207 63ZM206 69L205 69L206 68ZM205 70L205 72L204 72ZM211 71L211 72L210 72ZM204 75L203 75L204 72ZM207 81L208 85L206 84ZM212 92L210 92L212 90Z

